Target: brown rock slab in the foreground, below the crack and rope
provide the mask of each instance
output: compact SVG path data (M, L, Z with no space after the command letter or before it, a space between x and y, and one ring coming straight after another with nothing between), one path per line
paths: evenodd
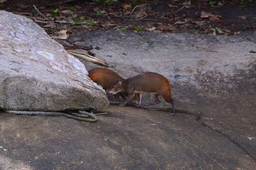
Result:
M109 114L95 124L0 113L0 169L20 164L30 170L256 169L242 148L190 115L130 106L101 111Z

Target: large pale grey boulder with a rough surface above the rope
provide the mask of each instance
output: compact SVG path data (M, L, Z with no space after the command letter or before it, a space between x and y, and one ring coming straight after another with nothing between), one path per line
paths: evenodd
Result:
M0 11L0 109L106 107L104 90L87 74L78 59L32 20Z

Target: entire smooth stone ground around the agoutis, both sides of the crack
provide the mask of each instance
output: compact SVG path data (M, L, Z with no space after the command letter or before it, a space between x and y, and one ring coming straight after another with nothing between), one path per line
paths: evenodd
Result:
M95 31L70 42L128 78L158 72L170 104L111 104L97 123L0 112L0 170L255 170L256 33L236 36ZM126 55L124 55L125 53ZM83 61L87 70L99 67ZM110 96L111 98L111 96ZM143 94L142 102L152 101Z

